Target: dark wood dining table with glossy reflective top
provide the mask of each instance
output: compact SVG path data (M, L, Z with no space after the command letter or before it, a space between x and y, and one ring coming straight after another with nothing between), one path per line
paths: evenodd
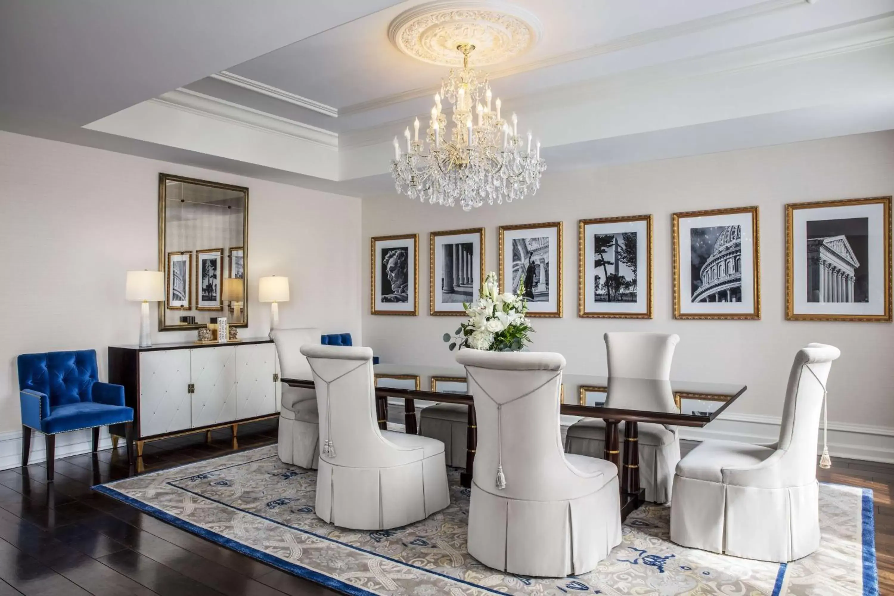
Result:
M387 399L404 400L406 432L418 429L415 401L426 400L468 406L466 469L460 483L470 486L477 446L475 404L466 392L460 367L378 364L375 371L375 411L379 426L387 426ZM313 379L283 378L294 387L313 389ZM639 482L638 423L702 427L709 424L746 390L741 383L657 381L589 374L562 374L561 407L564 416L602 418L605 421L605 459L620 470L621 515L643 504ZM624 422L624 457L618 426Z

